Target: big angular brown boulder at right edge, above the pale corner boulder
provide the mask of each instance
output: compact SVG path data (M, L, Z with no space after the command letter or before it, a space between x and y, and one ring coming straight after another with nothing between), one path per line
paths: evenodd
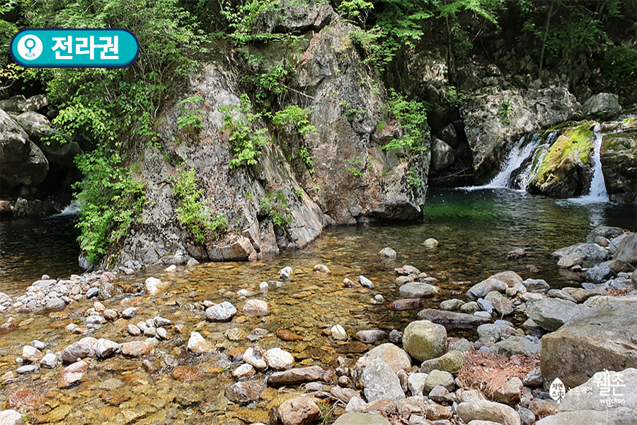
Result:
M560 378L566 387L575 387L600 370L637 368L637 297L599 297L597 302L593 314L542 338L541 370L547 385Z

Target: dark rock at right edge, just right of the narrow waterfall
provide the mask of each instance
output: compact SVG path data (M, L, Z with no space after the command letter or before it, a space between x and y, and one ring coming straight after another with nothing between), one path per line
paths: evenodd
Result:
M626 205L637 199L637 132L617 132L602 137L599 152L609 198Z

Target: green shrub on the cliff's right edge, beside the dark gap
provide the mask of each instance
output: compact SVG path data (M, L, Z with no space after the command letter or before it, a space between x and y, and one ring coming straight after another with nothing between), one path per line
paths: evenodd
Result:
M427 106L418 101L407 101L396 91L389 92L389 113L400 121L403 137L393 139L383 146L385 150L405 149L408 154L423 151L423 140L426 136L423 126L427 121Z

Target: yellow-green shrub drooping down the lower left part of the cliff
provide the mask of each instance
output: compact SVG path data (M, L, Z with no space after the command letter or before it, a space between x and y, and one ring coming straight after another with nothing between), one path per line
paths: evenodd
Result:
M195 169L180 166L177 177L171 176L168 182L173 185L173 194L178 198L177 220L190 230L200 244L205 242L206 231L224 231L228 220L223 214L210 215L201 196L202 189L197 189Z

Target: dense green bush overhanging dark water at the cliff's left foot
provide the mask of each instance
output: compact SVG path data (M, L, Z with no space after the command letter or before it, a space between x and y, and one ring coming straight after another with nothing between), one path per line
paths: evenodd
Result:
M86 175L74 188L79 189L78 238L91 263L106 254L108 244L126 234L134 217L142 212L144 185L121 166L121 157L108 149L76 157L76 164Z

